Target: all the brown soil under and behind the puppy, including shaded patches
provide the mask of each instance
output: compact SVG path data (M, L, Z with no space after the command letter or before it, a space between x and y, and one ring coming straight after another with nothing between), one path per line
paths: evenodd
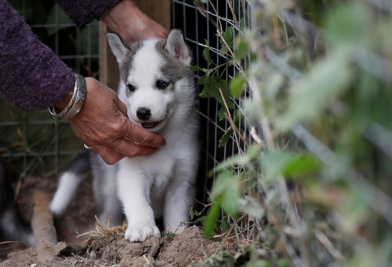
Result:
M53 193L55 186L56 179L24 179L17 202L25 219L29 220L32 215L33 190ZM197 226L185 229L174 238L151 237L143 243L124 240L121 227L105 235L95 233L77 238L77 233L96 229L91 180L83 181L76 196L66 214L55 223L61 241L56 246L57 260L38 262L33 247L9 253L0 267L188 267L202 262L219 247L218 242L205 240Z

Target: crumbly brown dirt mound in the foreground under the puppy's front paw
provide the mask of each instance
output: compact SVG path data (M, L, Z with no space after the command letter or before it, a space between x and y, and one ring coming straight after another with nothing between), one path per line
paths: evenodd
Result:
M219 243L203 238L199 228L192 226L173 239L151 237L142 243L129 243L123 233L93 237L86 254L93 258L73 256L59 261L38 263L34 248L10 253L0 267L187 267L211 255Z

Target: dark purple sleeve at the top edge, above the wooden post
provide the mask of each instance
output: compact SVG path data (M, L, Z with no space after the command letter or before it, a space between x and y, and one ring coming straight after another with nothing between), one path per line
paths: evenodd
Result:
M78 25L84 25L100 18L112 6L122 0L54 0Z

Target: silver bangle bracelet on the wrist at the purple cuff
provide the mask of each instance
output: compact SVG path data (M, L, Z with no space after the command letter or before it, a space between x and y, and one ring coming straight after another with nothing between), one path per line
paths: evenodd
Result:
M70 102L60 113L55 112L55 108L50 106L49 113L56 118L73 118L82 108L84 100L86 99L87 86L86 80L80 74L75 73L75 88L73 89L73 95Z

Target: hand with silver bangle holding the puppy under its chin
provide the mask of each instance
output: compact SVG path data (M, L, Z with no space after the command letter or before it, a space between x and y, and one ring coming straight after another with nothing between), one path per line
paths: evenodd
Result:
M94 78L86 78L87 94L80 112L69 119L76 136L107 164L123 157L147 156L165 140L133 124L116 93Z

